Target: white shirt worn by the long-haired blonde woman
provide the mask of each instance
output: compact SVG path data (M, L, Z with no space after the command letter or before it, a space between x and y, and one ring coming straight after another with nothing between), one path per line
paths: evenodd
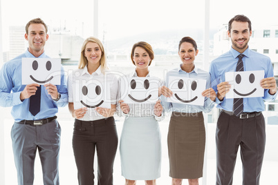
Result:
M73 75L75 74L75 75ZM71 74L68 75L68 102L73 102L73 83L75 80L80 79L93 79L94 77L103 77L106 83L110 86L110 97L111 97L111 104L117 104L117 93L118 93L118 79L113 72L106 70L104 74L101 72L101 67L99 67L95 72L90 75L88 72L87 66L84 68L79 68L77 70L73 70ZM82 117L82 121L93 121L98 119L103 119L102 115L98 114L94 108L88 108L84 117Z

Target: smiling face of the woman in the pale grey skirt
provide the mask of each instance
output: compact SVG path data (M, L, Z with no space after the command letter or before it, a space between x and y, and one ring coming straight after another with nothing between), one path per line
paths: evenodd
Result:
M134 50L133 61L138 70L148 70L151 58L149 53L141 47L136 47Z

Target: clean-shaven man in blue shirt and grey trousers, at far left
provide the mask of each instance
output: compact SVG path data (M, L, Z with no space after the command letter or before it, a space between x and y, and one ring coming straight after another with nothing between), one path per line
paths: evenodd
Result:
M55 114L58 106L66 106L68 93L64 69L61 85L21 84L21 59L47 58L44 45L48 40L47 26L41 19L26 24L28 50L3 64L0 71L0 106L12 106L12 149L19 185L33 184L37 150L41 159L44 184L59 184L58 159L61 128ZM36 93L39 92L39 93ZM37 97L32 103L30 99ZM35 113L33 113L35 109ZM32 113L31 113L32 112Z

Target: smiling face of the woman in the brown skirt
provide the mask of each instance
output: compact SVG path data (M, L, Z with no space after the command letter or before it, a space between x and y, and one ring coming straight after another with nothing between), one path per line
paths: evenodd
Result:
M198 55L198 50L195 50L192 43L183 42L180 44L180 50L178 51L180 60L183 62L182 69L191 72L194 68L195 56Z

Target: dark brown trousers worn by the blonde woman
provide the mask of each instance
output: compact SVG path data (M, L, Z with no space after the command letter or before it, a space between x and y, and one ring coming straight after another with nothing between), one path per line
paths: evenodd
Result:
M98 155L98 184L113 184L113 164L117 147L118 134L113 117L95 121L75 119L73 153L79 184L94 184L95 149Z

